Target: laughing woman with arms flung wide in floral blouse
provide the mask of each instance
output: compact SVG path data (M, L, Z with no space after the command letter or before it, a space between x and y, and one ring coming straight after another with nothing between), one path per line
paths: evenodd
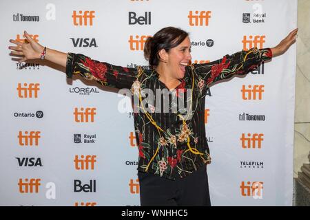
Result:
M293 30L271 49L254 47L211 63L189 65L192 56L188 33L167 27L145 43L149 69L120 67L83 54L51 50L39 45L27 32L28 42L11 40L17 46L9 48L14 50L13 55L23 56L19 62L45 58L65 67L68 78L81 75L101 85L129 91L136 100L134 129L142 206L210 206L206 166L211 163L211 157L204 118L207 91L216 82L248 74L263 61L283 54L295 42L296 34L297 30ZM155 105L147 109L149 103L144 103L147 97L144 91L154 94L153 104L168 110L154 111L161 109ZM169 91L168 96L156 102L156 96L161 97L165 91ZM179 108L181 103L174 102L176 96L187 97L185 104L189 111Z

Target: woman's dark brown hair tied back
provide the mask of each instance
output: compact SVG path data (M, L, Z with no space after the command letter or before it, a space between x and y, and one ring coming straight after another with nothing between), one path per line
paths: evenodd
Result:
M180 28L167 27L159 30L154 36L149 37L144 46L144 57L149 65L156 67L161 61L158 52L178 46L188 36L188 33Z

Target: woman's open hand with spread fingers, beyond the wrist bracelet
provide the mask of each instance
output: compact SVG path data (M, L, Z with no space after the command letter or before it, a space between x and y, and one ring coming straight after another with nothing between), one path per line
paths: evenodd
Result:
M27 60L38 59L41 58L41 53L44 50L44 47L34 41L31 36L27 32L24 32L24 36L27 41L25 43L21 43L19 41L10 40L10 43L14 43L17 46L10 46L9 49L12 50L11 54L23 56L19 60L19 63L25 62Z

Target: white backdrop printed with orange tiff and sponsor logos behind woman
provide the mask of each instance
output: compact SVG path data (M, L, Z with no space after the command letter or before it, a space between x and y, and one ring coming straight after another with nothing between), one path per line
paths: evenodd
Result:
M147 67L147 36L190 33L193 63L273 47L296 28L296 0L1 1L0 205L139 206L132 109L117 91L17 63L23 30L55 50ZM209 89L213 206L291 206L296 45L245 78ZM86 115L81 117L81 115Z

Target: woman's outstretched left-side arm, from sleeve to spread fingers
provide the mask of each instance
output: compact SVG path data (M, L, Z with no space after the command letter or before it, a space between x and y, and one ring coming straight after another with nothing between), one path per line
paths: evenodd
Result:
M13 50L12 55L23 56L19 63L41 58L41 53L44 50L44 47L34 41L27 32L24 34L28 42L21 43L10 40L11 43L16 45L9 47L10 50ZM101 85L118 89L130 89L137 77L136 68L95 61L83 54L63 53L47 48L45 60L65 67L65 74L67 74L68 78L72 78L74 74L79 74L87 80L95 80Z

